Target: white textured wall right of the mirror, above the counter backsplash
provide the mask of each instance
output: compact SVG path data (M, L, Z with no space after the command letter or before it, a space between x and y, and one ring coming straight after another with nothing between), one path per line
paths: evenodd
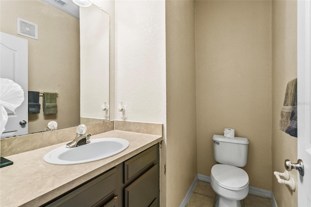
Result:
M165 1L115 2L115 119L165 123Z

